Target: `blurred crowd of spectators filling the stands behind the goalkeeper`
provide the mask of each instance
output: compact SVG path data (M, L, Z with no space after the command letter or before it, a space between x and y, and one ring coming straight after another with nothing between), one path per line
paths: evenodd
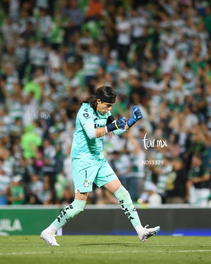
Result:
M0 205L69 204L71 140L81 102L118 94L104 155L140 203L210 199L211 2L2 0ZM95 187L89 203L117 203Z

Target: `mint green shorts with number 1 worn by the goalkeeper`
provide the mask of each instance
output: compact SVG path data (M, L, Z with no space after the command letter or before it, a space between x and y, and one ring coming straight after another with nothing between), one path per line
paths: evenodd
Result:
M72 158L72 178L75 193L92 191L93 182L100 188L118 177L105 159Z

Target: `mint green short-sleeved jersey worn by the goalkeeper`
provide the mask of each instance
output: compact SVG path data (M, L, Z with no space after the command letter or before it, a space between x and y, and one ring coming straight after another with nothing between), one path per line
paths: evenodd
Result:
M84 124L90 124L90 129L105 127L111 112L108 111L105 115L97 113L99 116L95 114L94 109L87 103L83 103L78 111L70 153L72 158L104 158L102 155L103 136L90 139L83 129Z

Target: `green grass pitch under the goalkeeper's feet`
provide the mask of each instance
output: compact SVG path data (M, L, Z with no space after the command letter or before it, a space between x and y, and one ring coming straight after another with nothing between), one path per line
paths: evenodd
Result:
M137 236L63 235L57 242L60 247L47 246L39 235L0 236L0 263L211 263L208 236L156 235L141 243Z

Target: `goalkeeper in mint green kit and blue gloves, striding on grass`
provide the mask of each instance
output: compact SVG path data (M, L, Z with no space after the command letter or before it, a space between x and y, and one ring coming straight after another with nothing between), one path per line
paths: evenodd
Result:
M110 132L117 135L125 133L142 118L142 113L137 106L134 106L128 120L125 117L115 120L111 115L111 109L116 100L115 91L109 86L102 86L95 93L83 102L76 116L76 128L70 153L75 191L74 201L66 206L56 220L41 232L41 238L50 246L59 246L55 239L57 230L67 224L70 218L84 211L93 183L98 187L108 189L115 195L122 211L137 231L140 241L146 242L147 238L160 231L159 226L147 228L141 225L128 191L102 155L103 135Z

